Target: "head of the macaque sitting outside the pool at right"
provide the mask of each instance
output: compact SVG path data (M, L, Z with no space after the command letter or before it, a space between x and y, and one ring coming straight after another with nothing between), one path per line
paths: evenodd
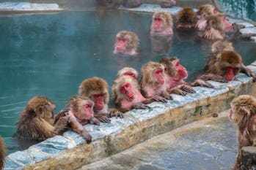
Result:
M229 118L238 127L246 125L256 115L256 99L253 96L238 96L231 101L230 106Z

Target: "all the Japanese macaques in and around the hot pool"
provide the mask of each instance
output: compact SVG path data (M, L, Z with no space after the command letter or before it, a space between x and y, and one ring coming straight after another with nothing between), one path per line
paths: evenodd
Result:
M197 15L200 15L199 19ZM168 12L155 12L150 28L152 36L172 35L172 16ZM131 109L147 109L147 104L153 101L172 100L170 93L182 96L196 93L192 88L194 86L213 88L207 80L228 82L239 72L256 80L256 74L244 66L232 43L224 39L225 32L233 28L232 24L212 5L202 5L197 13L189 7L181 9L176 18L176 28L198 28L202 38L216 40L211 47L204 73L194 82L185 81L188 74L177 57L163 57L158 62L145 63L141 69L141 79L135 69L124 67L117 72L111 88L117 109L108 107L110 97L107 82L100 77L92 77L81 82L78 95L71 97L67 107L56 116L54 101L45 96L32 98L21 112L16 123L18 129L15 135L19 139L43 141L69 128L89 143L92 136L84 128L88 123L110 123L109 117L122 118L123 113ZM136 55L138 45L139 39L136 34L121 31L116 36L114 53ZM241 147L256 144L256 99L252 96L239 96L231 103L231 107L230 119L239 127L238 158L234 167L239 169ZM4 147L2 149L4 153ZM0 157L1 153L0 150ZM3 162L0 162L0 166L2 165Z

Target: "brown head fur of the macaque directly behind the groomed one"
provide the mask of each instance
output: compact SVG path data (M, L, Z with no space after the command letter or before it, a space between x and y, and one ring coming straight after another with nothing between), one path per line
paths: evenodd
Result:
M79 85L78 94L80 96L89 97L92 99L92 96L95 94L105 93L104 102L105 104L109 103L109 90L108 83L101 79L100 77L92 77L84 80Z

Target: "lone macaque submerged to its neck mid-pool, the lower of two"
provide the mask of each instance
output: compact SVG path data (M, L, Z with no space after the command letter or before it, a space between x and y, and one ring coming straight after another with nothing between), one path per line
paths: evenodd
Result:
M136 55L139 45L138 36L131 31L120 31L116 35L114 54Z

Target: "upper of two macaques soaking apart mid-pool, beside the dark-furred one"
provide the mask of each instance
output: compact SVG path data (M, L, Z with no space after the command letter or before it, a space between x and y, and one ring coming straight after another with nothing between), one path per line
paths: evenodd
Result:
M172 15L169 12L155 12L150 26L150 35L172 34Z

